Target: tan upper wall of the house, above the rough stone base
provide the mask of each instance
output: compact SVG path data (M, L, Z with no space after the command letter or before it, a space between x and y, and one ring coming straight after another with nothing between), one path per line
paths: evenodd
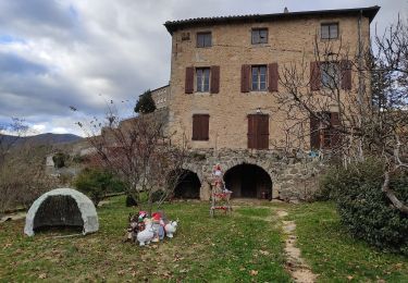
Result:
M353 58L358 42L358 16L309 16L275 21L249 21L223 25L203 24L186 27L172 35L172 65L170 82L170 126L176 133L174 139L191 139L193 115L209 114L209 140L191 140L193 148L247 148L247 115L259 108L269 114L270 145L285 143L285 114L277 109L277 102L269 91L240 91L240 70L243 64L277 63L279 69L290 64L316 61L314 39L320 39L322 23L338 23L339 38L330 40L333 50L342 45ZM251 45L251 29L267 27L268 44ZM211 32L212 46L196 47L196 35ZM369 42L370 24L362 19L363 42ZM185 40L185 34L189 37ZM220 93L185 94L186 67L220 66ZM307 69L309 70L309 69ZM281 72L280 71L280 72ZM308 71L309 72L309 71ZM353 89L357 89L357 72L353 72ZM306 86L308 87L308 86ZM279 86L279 91L284 91ZM333 111L336 111L335 109Z

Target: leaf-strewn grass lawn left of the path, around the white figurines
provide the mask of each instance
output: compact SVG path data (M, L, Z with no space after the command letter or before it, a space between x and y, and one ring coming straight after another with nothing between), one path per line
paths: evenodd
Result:
M98 210L100 231L85 237L28 238L24 221L1 224L0 281L290 281L276 222L258 219L272 214L268 208L210 219L208 202L176 202L165 207L180 218L175 237L148 247L122 243L131 211L112 198Z

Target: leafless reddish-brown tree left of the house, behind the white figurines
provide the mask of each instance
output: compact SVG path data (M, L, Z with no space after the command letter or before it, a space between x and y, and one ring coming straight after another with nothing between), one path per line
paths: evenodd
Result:
M161 192L160 206L173 194L183 173L185 146L171 145L165 133L166 119L162 111L121 120L111 103L103 121L94 119L90 127L78 123L95 150L94 162L120 176L126 194L149 212L154 192Z

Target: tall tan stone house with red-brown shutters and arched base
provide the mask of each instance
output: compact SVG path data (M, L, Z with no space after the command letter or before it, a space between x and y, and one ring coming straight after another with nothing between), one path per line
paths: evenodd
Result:
M181 197L209 198L212 165L221 163L235 197L306 198L316 187L319 160L287 157L284 115L274 111L273 93L283 91L280 67L306 60L311 90L327 79L321 64L344 72L342 88L357 79L338 62L317 62L314 40L358 50L370 42L370 23L379 7L201 17L166 22L172 36L169 132L174 143L189 140L188 174ZM335 63L335 64L334 64ZM336 110L329 113L336 119ZM311 130L317 127L313 121ZM330 147L336 137L311 134L310 148ZM273 145L273 146L272 146Z

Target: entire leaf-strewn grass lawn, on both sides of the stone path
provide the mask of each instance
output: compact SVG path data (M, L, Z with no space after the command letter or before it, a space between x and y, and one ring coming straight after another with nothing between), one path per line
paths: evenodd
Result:
M100 231L85 237L55 238L61 233L44 232L28 238L24 221L0 224L0 282L290 282L276 210L295 220L297 245L319 281L408 282L407 259L353 239L333 204L248 205L232 217L211 219L207 202L175 202L165 207L170 219L180 219L175 237L139 247L122 242L133 212L123 197L98 210Z

